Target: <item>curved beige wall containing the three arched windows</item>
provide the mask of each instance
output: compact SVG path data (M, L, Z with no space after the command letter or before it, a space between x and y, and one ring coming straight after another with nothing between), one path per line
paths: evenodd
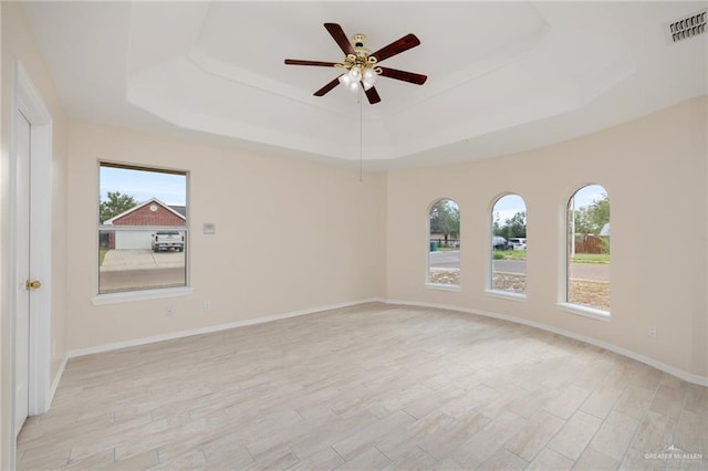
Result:
M708 376L706 287L706 97L546 148L388 174L389 300L514 316L608 343ZM612 211L612 320L561 311L563 213L584 184L605 187ZM490 208L504 192L525 199L524 302L485 294ZM439 197L461 218L461 289L426 289L426 217ZM412 236L417 234L417 237ZM648 324L658 329L646 335Z

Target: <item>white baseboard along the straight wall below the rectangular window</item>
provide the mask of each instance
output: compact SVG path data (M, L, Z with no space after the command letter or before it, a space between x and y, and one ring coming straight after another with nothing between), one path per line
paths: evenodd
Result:
M327 306L312 307L312 308L300 310L300 311L291 311L291 312L288 312L288 313L275 314L275 315L266 316L266 317L257 317L257 318L249 318L249 320L246 320L246 321L237 321L237 322L231 322L231 323L228 323L228 324L210 325L208 327L194 328L194 329L190 329L190 331L174 332L171 334L156 335L156 336L153 336L153 337L144 337L144 338L136 338L136 339L133 339L133 341L116 342L116 343L105 344L105 345L96 345L96 346L93 346L93 347L79 348L79 349L70 350L70 352L66 353L66 356L69 358L75 358L75 357L85 356L85 355L92 355L92 354L96 354L96 353L112 352L112 350L117 350L117 349L121 349L121 348L128 348L128 347L136 347L136 346L140 346L140 345L154 344L154 343L157 343L157 342L174 341L176 338L190 337L192 335L210 334L212 332L227 331L229 328L236 328L236 327L244 327L247 325L263 324L266 322L279 321L281 318L296 317L296 316L308 315L308 314L316 314L316 313L321 313L321 312L324 312L324 311L339 310L339 308L342 308L342 307L350 307L350 306L355 306L355 305L358 305L358 304L365 304L365 303L372 303L372 302L383 302L383 300L378 299L378 297L369 297L369 299L365 299L365 300L350 301L350 302L339 303L339 304L331 304L331 305L327 305Z

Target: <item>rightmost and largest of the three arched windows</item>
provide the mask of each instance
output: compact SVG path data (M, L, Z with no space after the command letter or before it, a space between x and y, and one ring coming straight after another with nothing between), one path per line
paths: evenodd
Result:
M568 201L565 301L610 312L610 198L586 185Z

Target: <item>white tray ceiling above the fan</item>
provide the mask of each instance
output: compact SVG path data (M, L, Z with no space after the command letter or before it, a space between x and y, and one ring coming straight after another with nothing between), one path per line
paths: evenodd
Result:
M548 145L708 93L708 34L668 23L708 2L24 2L71 117L333 163L360 159L357 94L323 23L364 33L382 63L361 106L371 169L489 158Z

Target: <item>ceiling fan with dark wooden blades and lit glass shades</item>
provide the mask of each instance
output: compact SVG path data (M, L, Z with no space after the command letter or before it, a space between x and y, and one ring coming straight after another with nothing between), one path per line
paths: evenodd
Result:
M381 96L378 96L378 92L376 92L376 88L374 87L378 75L403 82L409 82L416 85L423 85L428 78L426 75L398 71L396 69L382 67L378 65L378 63L385 59L400 54L402 52L420 44L420 40L418 40L415 34L406 34L376 52L371 52L368 49L364 48L364 44L366 43L366 36L364 34L354 34L350 42L346 34L344 34L344 30L339 24L324 23L324 28L330 32L344 54L346 54L341 63L285 59L287 65L315 65L345 70L342 75L317 90L314 93L314 96L323 96L339 84L345 85L352 91L357 91L361 86L366 93L368 103L373 105L381 102Z

